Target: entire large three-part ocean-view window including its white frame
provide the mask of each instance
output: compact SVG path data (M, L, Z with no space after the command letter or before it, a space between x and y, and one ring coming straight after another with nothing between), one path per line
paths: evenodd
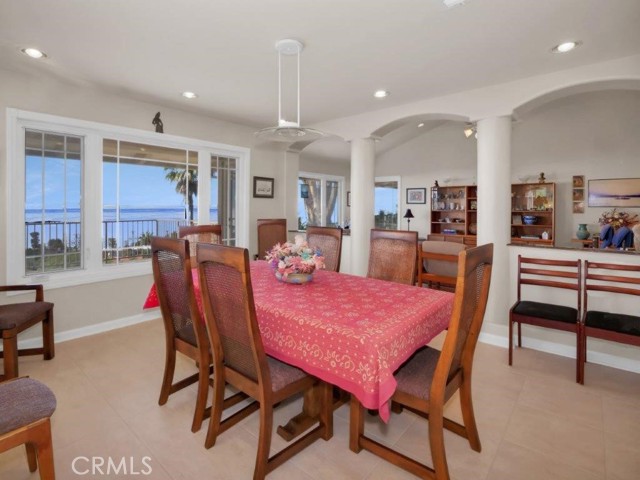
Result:
M249 246L250 150L7 108L8 283L151 274L151 238L219 223Z

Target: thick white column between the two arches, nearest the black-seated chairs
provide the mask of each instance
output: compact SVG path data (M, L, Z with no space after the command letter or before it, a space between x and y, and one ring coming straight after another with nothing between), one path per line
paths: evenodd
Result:
M506 325L511 242L511 117L478 122L478 245L493 243L485 323Z

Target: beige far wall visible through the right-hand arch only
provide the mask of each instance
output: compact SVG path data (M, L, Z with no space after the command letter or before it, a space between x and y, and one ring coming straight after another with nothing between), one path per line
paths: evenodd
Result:
M640 92L603 91L556 100L513 125L513 180L540 172L556 182L556 238L569 244L579 223L599 231L598 218L610 208L573 214L572 176L640 178ZM586 187L586 185L585 185ZM585 188L585 196L587 190ZM640 209L624 209L639 214Z

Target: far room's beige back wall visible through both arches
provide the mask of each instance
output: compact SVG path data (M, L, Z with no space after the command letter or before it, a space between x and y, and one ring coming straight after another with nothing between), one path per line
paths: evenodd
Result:
M513 124L512 182L535 182L541 172L556 182L557 244L569 245L579 223L593 232L606 208L588 208L573 214L572 177L585 182L597 178L640 177L640 92L592 92L556 100ZM476 141L462 134L462 124L449 122L380 155L376 176L402 177L402 209L405 189L471 184L476 176ZM587 191L585 189L585 195ZM416 216L412 228L420 236L429 232L427 205L411 205ZM640 209L625 209L640 214ZM404 211L404 210L402 210ZM481 225L478 228L482 228Z

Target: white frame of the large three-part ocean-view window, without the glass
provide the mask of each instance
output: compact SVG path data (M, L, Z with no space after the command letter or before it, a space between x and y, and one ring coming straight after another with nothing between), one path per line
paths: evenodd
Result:
M82 250L84 268L61 272L25 275L25 129L35 129L84 138L82 175ZM147 132L134 128L7 109L7 176L6 176L6 258L8 283L42 283L48 289L149 275L151 263L131 262L121 265L102 263L102 140L147 143L160 147L198 151L200 175L208 178L211 155L237 159L236 222L238 246L249 246L249 186L251 151L245 147L208 142L176 135ZM200 178L199 178L200 180ZM202 178L204 180L204 177ZM208 180L203 183L207 185ZM198 192L199 220L208 220L211 192L208 185Z

